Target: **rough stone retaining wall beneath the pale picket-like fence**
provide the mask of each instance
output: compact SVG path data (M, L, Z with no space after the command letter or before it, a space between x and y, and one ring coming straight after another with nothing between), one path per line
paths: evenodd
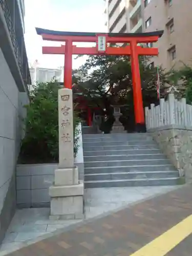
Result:
M192 181L192 127L168 125L148 130L157 141L163 153L185 176Z

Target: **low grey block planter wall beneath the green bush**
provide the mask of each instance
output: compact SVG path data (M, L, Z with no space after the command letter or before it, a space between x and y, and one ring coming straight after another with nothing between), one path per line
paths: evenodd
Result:
M78 167L79 179L84 180L84 161L81 124L78 141L78 153L75 165ZM49 207L49 187L54 181L54 170L58 164L19 164L16 170L17 206L19 208Z

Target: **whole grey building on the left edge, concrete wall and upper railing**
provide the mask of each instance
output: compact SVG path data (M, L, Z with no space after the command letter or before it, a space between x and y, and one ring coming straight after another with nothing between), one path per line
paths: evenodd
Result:
M0 0L0 244L16 208L15 169L31 83L24 0Z

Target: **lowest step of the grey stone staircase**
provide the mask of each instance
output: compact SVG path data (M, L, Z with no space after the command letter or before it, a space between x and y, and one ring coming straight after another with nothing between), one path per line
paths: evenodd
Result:
M158 178L158 179L126 179L126 180L102 180L85 181L86 188L89 187L127 187L127 186L170 186L180 184L180 178ZM129 195L127 195L129 196Z

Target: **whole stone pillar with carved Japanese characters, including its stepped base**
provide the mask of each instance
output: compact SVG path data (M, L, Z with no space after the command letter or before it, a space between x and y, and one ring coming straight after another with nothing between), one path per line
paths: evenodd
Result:
M53 219L83 218L83 182L74 166L73 94L71 89L58 91L59 165L54 184L49 188Z

